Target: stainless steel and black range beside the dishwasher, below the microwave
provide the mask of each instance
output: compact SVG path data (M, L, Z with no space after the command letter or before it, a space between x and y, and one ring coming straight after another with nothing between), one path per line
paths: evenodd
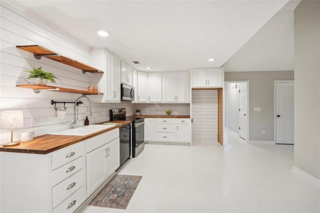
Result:
M115 108L110 110L110 120L131 120L131 156L136 157L144 148L144 119L136 117L126 117L125 108ZM121 133L120 133L121 134Z

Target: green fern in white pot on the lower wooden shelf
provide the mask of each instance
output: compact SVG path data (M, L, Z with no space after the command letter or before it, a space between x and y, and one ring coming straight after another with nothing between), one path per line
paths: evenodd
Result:
M47 81L51 81L52 83L55 83L54 79L58 79L52 72L45 72L41 69L42 67L35 68L33 66L33 69L29 70L26 69L24 71L29 72L27 79L32 80L32 84L40 84L45 85Z

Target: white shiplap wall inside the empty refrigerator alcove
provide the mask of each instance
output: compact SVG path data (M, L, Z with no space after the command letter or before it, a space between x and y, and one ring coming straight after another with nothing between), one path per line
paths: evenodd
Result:
M218 92L192 90L192 142L217 142Z

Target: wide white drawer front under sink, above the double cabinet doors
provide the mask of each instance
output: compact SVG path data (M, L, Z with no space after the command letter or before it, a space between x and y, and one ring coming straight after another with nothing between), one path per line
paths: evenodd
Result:
M119 129L114 129L108 132L105 132L101 135L92 137L86 141L86 153L96 149L97 147L119 137Z

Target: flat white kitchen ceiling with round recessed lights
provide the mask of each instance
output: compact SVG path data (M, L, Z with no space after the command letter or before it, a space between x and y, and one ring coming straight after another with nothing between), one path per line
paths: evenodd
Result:
M88 45L106 47L132 67L145 70L150 66L152 71L223 65L287 1L18 0ZM108 31L109 36L99 37L98 29ZM250 42L246 45L254 46L256 41ZM230 69L236 57L241 58L238 52L225 64ZM209 62L210 57L216 60Z

